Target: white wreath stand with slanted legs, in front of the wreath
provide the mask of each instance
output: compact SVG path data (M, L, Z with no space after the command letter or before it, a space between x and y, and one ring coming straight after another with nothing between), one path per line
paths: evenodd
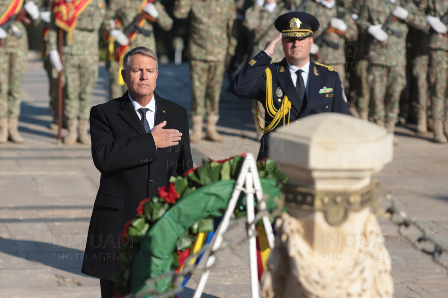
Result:
M257 245L254 235L255 223L255 208L253 195L255 194L258 201L258 209L260 211L266 210L266 203L263 201L263 190L261 189L260 177L258 176L257 165L252 153L247 153L241 164L241 171L236 180L235 188L232 192L232 197L228 203L227 210L225 211L224 218L221 224L218 226L215 238L213 240L212 249L209 257L206 261L205 272L202 274L199 284L196 287L195 295L193 298L201 298L204 292L207 279L210 275L210 268L215 263L215 252L221 247L223 243L223 235L227 230L230 217L235 210L236 203L238 202L239 195L243 191L246 194L246 209L247 209L247 223L250 226L247 228L247 234L249 236L249 261L250 261L250 282L252 289L252 298L259 298L258 293L258 270L257 270ZM263 225L266 230L269 247L274 247L274 233L272 231L271 222L267 215L263 216Z

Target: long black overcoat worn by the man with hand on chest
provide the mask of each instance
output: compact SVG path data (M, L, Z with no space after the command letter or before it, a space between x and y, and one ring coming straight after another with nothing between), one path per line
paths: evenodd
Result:
M166 120L164 129L177 129L177 146L157 149L146 133L129 100L120 98L92 107L90 132L92 157L101 172L100 189L90 221L82 272L111 280L116 270L115 253L121 232L132 220L141 200L157 195L170 176L193 167L187 110L154 92L155 125Z

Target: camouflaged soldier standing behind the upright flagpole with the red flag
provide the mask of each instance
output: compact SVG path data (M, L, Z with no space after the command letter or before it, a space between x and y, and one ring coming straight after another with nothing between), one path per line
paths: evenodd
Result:
M88 145L91 144L88 130L92 90L99 70L98 29L106 14L106 2L81 0L70 7L74 11L70 11L69 15L77 15L74 28L67 28L62 19L55 20L57 26L68 29L64 32L62 64L57 49L50 50L50 61L58 71L64 69L64 117L67 118L68 127L64 144L73 145L79 141ZM57 32L58 28L52 26L49 38L55 45L58 44Z

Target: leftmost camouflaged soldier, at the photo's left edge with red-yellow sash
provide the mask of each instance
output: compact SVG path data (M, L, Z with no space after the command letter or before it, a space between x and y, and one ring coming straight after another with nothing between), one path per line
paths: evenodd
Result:
M20 85L28 63L28 36L24 23L37 26L39 8L32 1L0 2L0 143L22 143L18 133ZM26 16L25 16L26 15ZM29 18L29 19L28 19Z

